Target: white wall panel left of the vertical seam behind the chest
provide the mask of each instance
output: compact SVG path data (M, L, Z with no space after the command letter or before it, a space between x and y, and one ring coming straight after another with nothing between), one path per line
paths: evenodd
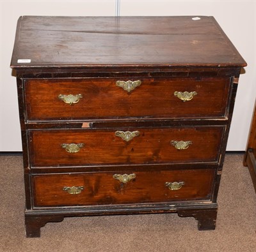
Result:
M22 151L16 79L10 69L17 20L22 15L114 16L116 1L0 1L0 151Z

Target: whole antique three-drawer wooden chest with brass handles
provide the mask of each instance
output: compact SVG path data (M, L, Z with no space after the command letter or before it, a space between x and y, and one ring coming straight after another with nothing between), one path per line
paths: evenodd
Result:
M215 228L243 58L212 17L20 17L27 237L66 216Z

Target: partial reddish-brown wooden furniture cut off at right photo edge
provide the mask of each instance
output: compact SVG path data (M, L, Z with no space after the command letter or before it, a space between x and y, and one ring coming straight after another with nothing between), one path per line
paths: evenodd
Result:
M252 117L248 145L244 155L244 166L248 167L256 192L256 107Z

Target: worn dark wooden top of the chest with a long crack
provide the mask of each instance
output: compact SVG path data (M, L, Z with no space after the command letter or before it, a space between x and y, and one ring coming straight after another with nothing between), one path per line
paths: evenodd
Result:
M20 17L12 68L246 66L213 17Z

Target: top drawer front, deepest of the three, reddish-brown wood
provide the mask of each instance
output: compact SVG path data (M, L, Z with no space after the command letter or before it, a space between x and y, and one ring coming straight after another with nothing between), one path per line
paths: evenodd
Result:
M230 78L142 78L141 84L130 92L117 86L116 81L113 78L26 80L28 120L226 115ZM191 95L184 102L181 99L185 92Z

